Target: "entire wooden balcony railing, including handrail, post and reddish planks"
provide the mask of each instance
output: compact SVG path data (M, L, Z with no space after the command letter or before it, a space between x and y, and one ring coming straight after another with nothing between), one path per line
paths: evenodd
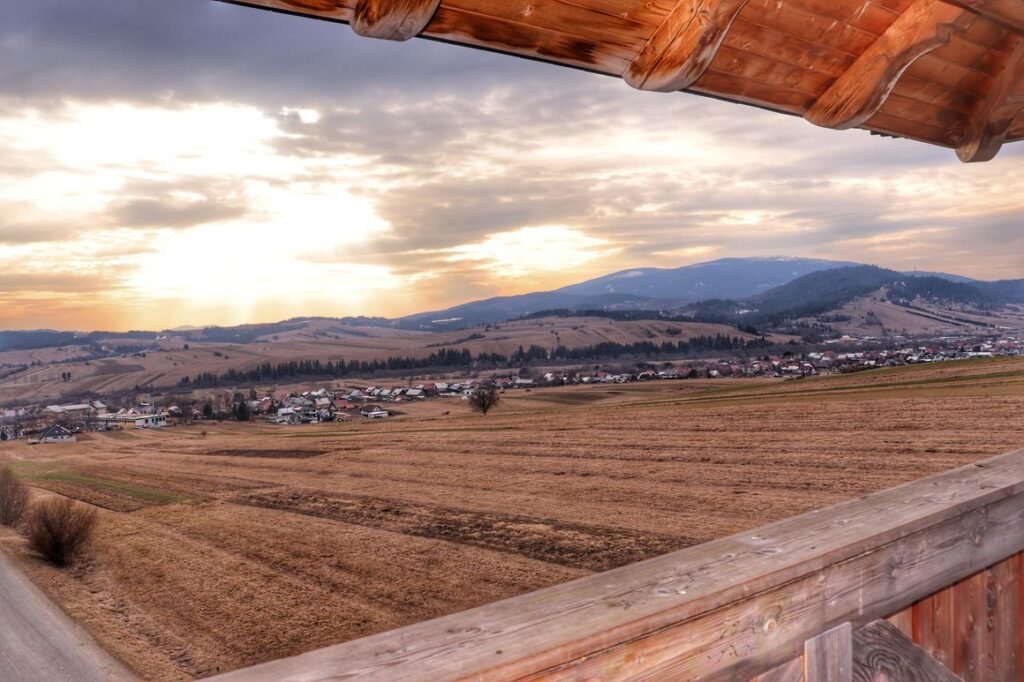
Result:
M1019 451L215 679L1022 680L1022 551Z

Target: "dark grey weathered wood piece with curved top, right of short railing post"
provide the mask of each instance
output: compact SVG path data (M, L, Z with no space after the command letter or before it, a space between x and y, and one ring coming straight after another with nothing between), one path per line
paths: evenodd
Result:
M913 643L896 626L874 621L853 635L853 679L957 682L959 677Z

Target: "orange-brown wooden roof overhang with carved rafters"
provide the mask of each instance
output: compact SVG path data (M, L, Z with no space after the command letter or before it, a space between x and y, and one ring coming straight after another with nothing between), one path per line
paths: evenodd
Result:
M988 96L1024 37L1021 0L223 1L686 89L968 161L1024 138L1016 95Z

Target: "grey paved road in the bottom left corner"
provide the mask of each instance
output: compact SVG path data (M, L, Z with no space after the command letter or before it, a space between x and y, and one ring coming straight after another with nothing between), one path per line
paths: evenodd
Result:
M135 679L0 553L0 681Z

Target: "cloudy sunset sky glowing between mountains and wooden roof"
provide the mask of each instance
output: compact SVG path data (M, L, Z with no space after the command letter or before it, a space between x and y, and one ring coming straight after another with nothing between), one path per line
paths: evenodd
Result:
M0 329L394 316L726 256L1021 278L1022 161L211 0L5 0Z

